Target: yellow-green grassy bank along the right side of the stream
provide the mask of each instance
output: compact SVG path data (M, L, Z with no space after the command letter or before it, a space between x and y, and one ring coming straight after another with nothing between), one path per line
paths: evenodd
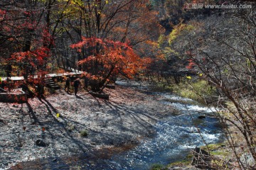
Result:
M159 88L163 88L166 91L171 91L173 94L177 94L178 96L182 96L184 98L191 98L193 101L198 101L199 103L205 103L206 106L216 106L216 89L206 81L199 80L199 81L189 81L185 80L181 84L168 84L166 82L156 82L154 83L155 86ZM233 125L233 123L238 123L237 121L233 121L230 123L230 120L236 120L235 113L237 110L234 104L228 99L226 101L220 101L221 109L219 111L218 116L220 118L226 118L224 125L223 125L223 136L225 136L225 132L228 132L226 135L232 137L232 140L228 142L227 136L225 136L224 141L217 144L209 144L208 146L202 145L199 146L201 149L205 150L206 152L210 153L211 155L211 162L210 166L213 169L255 169L256 162L252 157L252 154L249 152L249 148L247 147L245 137L242 133L238 130L238 128ZM239 124L239 123L238 123ZM224 130L225 128L225 130ZM253 129L253 128L252 128ZM194 169L191 167L191 157L187 159L173 162L167 166L163 166L166 169ZM242 167L238 164L238 160L243 164ZM163 168L162 168L163 169Z

